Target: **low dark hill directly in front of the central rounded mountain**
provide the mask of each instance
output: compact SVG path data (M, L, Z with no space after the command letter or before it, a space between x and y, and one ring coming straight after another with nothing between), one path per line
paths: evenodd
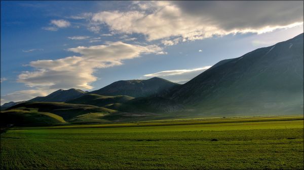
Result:
M104 106L112 103L124 103L126 101L132 100L134 97L130 96L102 96L98 94L87 94L79 98L75 98L65 103L74 104L90 104L96 106Z

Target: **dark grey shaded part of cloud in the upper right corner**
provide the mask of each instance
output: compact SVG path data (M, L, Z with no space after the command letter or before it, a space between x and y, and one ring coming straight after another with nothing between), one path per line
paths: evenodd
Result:
M227 31L303 22L303 1L175 1L187 15Z

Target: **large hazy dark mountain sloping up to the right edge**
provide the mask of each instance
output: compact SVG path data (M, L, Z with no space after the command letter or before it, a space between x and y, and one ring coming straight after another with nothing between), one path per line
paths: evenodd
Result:
M167 93L126 105L197 116L303 114L303 34L220 61Z

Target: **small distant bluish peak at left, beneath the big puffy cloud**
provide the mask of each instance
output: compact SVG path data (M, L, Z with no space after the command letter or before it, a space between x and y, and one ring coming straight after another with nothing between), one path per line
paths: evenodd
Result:
M35 97L33 99L28 100L28 102L40 101L40 102L64 102L67 100L71 100L74 98L78 98L85 94L86 92L80 89L68 89L68 90L57 90L45 97Z

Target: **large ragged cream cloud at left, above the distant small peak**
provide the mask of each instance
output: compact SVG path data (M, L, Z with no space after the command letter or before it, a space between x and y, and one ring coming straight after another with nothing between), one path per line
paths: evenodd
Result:
M97 69L122 65L123 60L138 58L142 54L163 53L162 48L157 45L141 46L121 41L67 50L81 56L30 62L29 66L35 70L22 72L17 81L36 88L92 89L90 83L97 80L93 75Z

